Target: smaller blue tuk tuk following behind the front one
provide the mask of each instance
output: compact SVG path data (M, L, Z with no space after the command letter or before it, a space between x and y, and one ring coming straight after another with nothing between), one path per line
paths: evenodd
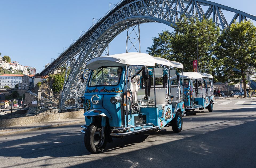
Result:
M213 111L213 76L206 73L184 72L184 99L185 111L208 109ZM177 78L172 77L172 85L177 83Z

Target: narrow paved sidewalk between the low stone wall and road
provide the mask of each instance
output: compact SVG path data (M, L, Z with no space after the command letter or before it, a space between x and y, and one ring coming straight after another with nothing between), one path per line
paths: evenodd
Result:
M24 132L28 132L28 131L41 130L41 129L52 128L52 127L71 125L71 124L82 123L82 122L85 123L84 117L55 120L55 121L49 121L49 122L40 122L40 123L27 124L27 125L0 127L0 136L24 133Z

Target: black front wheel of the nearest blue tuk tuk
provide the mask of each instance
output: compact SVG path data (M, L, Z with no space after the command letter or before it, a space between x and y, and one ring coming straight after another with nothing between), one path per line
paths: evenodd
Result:
M105 131L104 131L105 132ZM105 138L103 139L104 142L102 146L98 146L102 139L101 139L102 127L95 125L95 123L91 123L85 132L85 147L91 153L99 153L104 150L106 147L106 133Z

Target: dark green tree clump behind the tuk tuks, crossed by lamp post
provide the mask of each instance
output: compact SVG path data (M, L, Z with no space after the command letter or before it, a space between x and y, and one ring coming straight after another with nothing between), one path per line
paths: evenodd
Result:
M192 36L199 34L203 34L198 36L199 71L211 74L215 68L213 45L219 36L219 27L211 19L199 21L198 18L183 15L172 33L164 30L153 38L153 45L148 47L147 52L152 56L181 62L184 71L193 71L193 61L197 59L197 38Z

